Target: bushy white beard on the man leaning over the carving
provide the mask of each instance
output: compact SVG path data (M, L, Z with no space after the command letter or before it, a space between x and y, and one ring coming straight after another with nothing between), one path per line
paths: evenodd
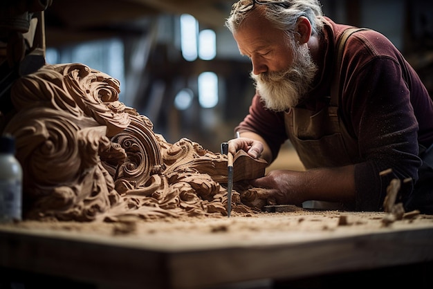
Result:
M317 66L313 63L308 47L293 45L293 54L293 66L286 71L259 75L250 73L267 109L273 111L291 109L300 103L302 97L311 88Z

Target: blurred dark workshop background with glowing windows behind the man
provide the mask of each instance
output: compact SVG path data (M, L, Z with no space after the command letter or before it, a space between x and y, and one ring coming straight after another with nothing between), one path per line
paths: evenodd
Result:
M79 62L121 82L120 101L168 142L205 149L233 137L254 93L251 64L224 27L233 0L53 0L46 61ZM433 91L433 1L322 0L337 22L373 28Z

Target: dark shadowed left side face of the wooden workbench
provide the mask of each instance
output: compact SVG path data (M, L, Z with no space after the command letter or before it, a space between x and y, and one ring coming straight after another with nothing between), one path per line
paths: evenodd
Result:
M160 252L44 234L0 232L0 266L100 288L167 288Z

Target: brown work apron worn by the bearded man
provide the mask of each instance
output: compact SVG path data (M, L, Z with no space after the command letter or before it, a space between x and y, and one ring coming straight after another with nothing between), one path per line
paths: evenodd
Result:
M338 98L338 96L335 95ZM338 116L338 103L319 112L291 109L284 115L286 133L306 169L340 167L358 162L358 142L347 132ZM307 201L303 207L311 209L352 210L341 203Z

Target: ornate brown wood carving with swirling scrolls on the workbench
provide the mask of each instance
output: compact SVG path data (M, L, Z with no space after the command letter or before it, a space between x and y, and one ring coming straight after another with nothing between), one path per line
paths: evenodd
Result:
M118 101L119 85L83 64L46 65L14 84L17 111L4 132L15 136L23 166L24 217L227 214L226 156L187 138L168 143L149 118ZM264 160L236 158L234 181L264 175ZM232 201L246 208L238 192Z

